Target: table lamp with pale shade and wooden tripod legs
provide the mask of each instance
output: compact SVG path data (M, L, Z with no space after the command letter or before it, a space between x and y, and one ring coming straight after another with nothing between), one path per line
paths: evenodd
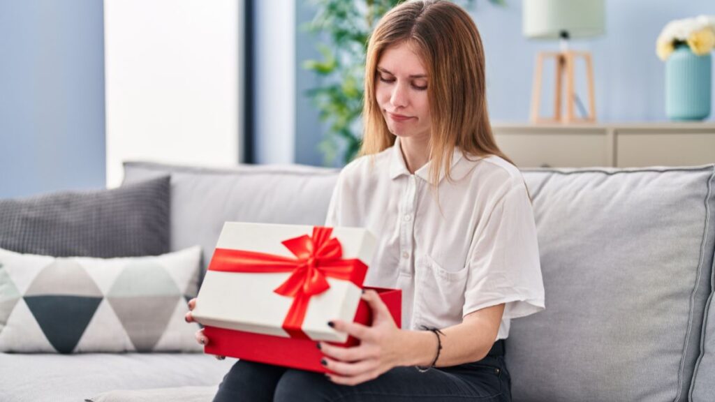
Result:
M560 39L560 52L540 52L536 58L531 93L531 122L596 122L593 95L593 64L590 52L568 49L572 38L591 38L605 32L605 0L523 0L523 34L531 39ZM586 64L588 114L578 118L573 104L578 99L575 87L576 60ZM553 117L541 117L541 74L546 59L554 59L556 82L553 89ZM563 82L566 80L566 113L563 113Z

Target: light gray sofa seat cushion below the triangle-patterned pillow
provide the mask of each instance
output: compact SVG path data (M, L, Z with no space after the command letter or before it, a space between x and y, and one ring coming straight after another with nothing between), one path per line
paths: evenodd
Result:
M203 353L0 353L0 401L79 402L114 390L215 387L235 362Z

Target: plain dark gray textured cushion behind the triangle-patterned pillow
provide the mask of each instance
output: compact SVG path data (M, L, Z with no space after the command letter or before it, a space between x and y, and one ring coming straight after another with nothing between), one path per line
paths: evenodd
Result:
M0 200L0 248L54 257L169 251L169 177L114 190Z

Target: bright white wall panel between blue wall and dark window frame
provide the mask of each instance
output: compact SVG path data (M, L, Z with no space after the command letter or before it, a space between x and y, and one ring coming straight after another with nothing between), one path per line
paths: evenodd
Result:
M240 158L242 0L104 0L107 186L123 160Z

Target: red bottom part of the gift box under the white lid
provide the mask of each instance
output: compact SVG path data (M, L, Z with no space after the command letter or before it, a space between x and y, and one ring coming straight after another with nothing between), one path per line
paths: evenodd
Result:
M400 327L402 317L402 291L398 289L365 288L378 292L395 323ZM355 323L369 325L373 322L370 305L360 300L355 313ZM327 323L326 323L327 325ZM316 347L317 341L310 339L283 338L282 336L263 335L240 330L204 327L204 334L209 338L209 344L204 346L204 353L218 356L230 356L302 370L325 373L327 370L320 364L322 352ZM331 342L332 343L332 342ZM345 343L332 343L340 346L358 345L360 341L350 336Z

